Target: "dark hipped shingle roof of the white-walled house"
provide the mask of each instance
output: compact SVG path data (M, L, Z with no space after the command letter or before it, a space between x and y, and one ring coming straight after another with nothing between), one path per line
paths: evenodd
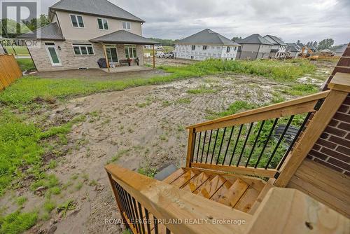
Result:
M204 29L197 34L186 37L185 39L176 41L176 43L192 43L192 44L208 44L208 45L224 45L224 46L239 46L234 41L225 36L211 31L211 29Z

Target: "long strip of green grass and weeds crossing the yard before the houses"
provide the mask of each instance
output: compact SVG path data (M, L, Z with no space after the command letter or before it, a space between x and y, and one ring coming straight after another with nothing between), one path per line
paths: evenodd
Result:
M125 81L82 81L79 79L48 79L27 76L20 78L1 92L0 102L19 106L20 104L30 104L38 98L49 100L64 99L77 95L89 95L94 92L124 90L125 88L141 85L157 85L179 79L222 72L253 74L273 78L277 81L295 81L296 78L315 71L314 64L309 63L307 60L290 60L290 62L272 60L205 60L184 67L160 66L159 68L172 74L154 76L152 78L133 78Z

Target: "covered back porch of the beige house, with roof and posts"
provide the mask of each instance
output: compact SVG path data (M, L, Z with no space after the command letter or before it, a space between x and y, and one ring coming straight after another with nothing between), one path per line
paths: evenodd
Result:
M99 36L90 40L102 46L104 60L102 67L107 72L144 71L144 46L153 48L153 69L155 69L154 45L158 42L125 30ZM101 66L102 64L100 64Z

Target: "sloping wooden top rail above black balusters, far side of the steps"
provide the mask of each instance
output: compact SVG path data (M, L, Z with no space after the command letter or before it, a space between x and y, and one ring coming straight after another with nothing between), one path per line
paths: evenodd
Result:
M223 118L216 118L212 121L190 125L186 129L194 128L195 132L202 132L205 130L225 128L232 125L241 125L254 121L262 121L269 118L279 118L283 116L296 115L299 113L314 112L315 104L319 99L327 97L329 92L329 90L318 92L314 95L300 97L287 102L264 106L258 109L236 113L234 115L226 116Z

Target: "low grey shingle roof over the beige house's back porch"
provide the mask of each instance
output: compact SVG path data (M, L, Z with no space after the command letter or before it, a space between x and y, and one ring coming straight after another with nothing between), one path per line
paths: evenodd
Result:
M131 44L141 44L141 45L155 45L159 44L157 41L147 39L143 36L137 34L132 34L125 30L119 30L112 32L111 34L106 34L104 36L99 36L94 39L90 39L91 42L104 42L104 43L131 43Z

